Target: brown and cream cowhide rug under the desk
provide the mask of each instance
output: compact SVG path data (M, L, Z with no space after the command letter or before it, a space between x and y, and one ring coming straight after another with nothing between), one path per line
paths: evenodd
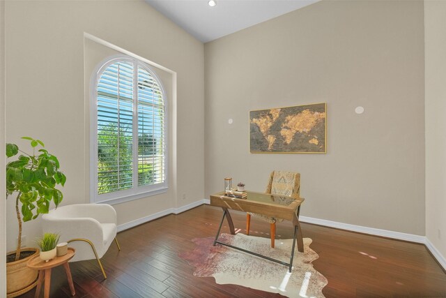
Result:
M243 285L286 297L324 297L322 289L328 281L313 268L312 262L319 256L309 248L312 239L304 238L304 253L298 252L296 245L291 273L288 267L276 262L220 244L213 246L213 237L192 241L197 244L194 250L179 256L196 267L194 276L213 276L219 284ZM219 241L284 262L290 261L293 244L293 239L276 239L276 247L271 248L270 239L245 234L221 234Z

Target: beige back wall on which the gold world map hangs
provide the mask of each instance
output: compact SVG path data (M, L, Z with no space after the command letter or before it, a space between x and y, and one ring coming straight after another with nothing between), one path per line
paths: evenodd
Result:
M422 1L321 1L206 43L206 195L298 171L302 216L424 235L423 19ZM327 154L249 154L249 110L321 102Z

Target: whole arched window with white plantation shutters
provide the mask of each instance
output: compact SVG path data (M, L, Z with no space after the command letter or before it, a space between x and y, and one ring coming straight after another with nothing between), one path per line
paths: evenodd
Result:
M94 202L124 202L167 190L166 109L160 80L130 57L95 77Z

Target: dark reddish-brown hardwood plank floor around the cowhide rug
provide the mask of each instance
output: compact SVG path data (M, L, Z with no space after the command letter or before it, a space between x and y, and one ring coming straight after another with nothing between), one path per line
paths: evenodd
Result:
M245 214L231 214L245 233ZM192 238L215 236L221 216L221 209L202 205L119 233L122 250L113 243L102 258L107 280L95 260L70 263L75 297L281 297L195 277L178 258L194 248ZM269 226L252 218L252 235L269 237ZM278 223L276 237L291 238L292 230L291 223ZM314 267L328 279L325 297L446 297L446 274L422 244L305 223L302 231L319 255ZM70 297L62 267L52 271L50 297Z

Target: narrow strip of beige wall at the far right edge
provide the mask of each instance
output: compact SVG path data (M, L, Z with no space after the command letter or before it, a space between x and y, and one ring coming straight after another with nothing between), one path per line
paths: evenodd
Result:
M446 258L446 1L424 1L426 237ZM440 233L440 234L439 234Z

